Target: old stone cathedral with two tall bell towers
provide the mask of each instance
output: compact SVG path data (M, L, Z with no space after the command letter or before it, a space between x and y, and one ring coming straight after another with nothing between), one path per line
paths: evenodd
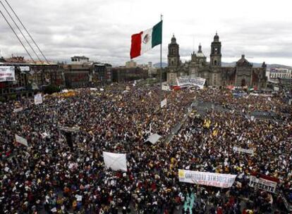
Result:
M253 64L242 55L236 62L235 67L221 66L221 42L216 33L211 43L210 61L202 52L199 45L197 53L191 54L190 61L182 63L179 55L179 45L176 37L171 38L169 53L167 55L168 66L166 68L167 82L176 85L176 78L184 75L195 75L206 79L207 86L234 86L234 87L255 87L265 88L267 85L266 70L267 65L262 63L261 68L253 68Z

